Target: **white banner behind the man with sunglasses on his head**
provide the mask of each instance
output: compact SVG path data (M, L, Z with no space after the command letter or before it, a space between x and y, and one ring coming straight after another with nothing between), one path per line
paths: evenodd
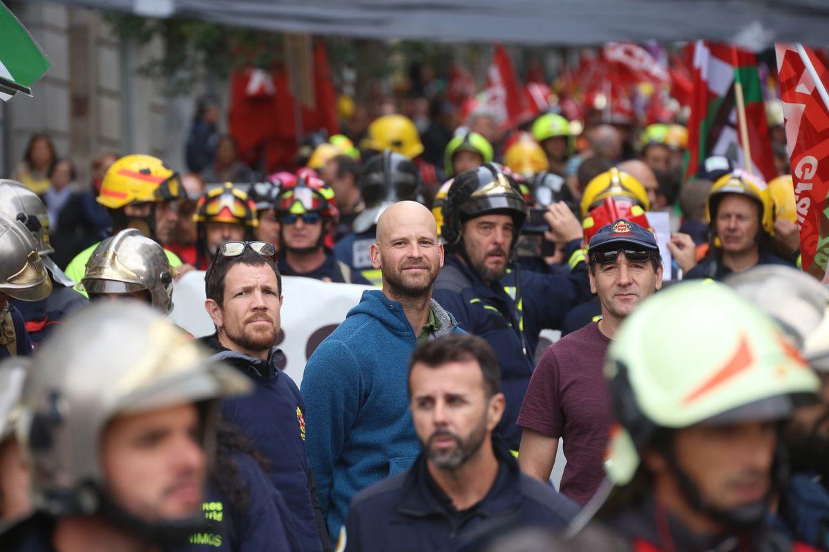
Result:
M204 271L187 272L176 282L172 292L175 308L170 319L196 337L216 330L204 307L204 277ZM284 302L277 344L285 353L285 372L297 385L302 382L305 362L322 339L331 334L346 318L348 310L360 302L364 290L376 289L283 276Z

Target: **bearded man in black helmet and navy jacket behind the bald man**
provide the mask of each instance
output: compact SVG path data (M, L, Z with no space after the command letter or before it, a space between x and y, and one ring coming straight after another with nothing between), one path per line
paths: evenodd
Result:
M462 329L495 349L507 397L499 431L517 450L516 419L536 365L538 335L541 329L560 329L567 311L590 298L587 266L573 260L581 247L581 224L563 202L551 204L545 220L565 259L572 257L571 269L519 273L512 259L526 202L516 181L491 163L455 178L443 214L442 237L450 254L435 281L434 298Z

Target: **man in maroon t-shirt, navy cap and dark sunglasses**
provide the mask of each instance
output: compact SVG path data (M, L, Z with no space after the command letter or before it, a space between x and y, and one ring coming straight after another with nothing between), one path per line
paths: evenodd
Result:
M588 249L591 290L602 319L547 348L532 374L518 425L518 463L550 478L559 439L567 458L560 491L584 506L604 478L604 450L613 423L604 353L623 319L662 286L662 261L649 230L619 219L599 230Z

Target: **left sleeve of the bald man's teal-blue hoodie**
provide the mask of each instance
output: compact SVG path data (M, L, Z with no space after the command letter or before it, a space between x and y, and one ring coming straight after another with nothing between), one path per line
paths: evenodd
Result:
M327 339L314 351L303 374L308 460L324 516L331 510L334 467L360 408L360 367L351 351Z

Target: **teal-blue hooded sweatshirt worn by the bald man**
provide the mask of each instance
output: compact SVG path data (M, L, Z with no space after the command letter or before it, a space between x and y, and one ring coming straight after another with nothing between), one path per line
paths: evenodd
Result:
M464 333L437 302L430 306L441 326L429 339ZM334 538L357 492L408 470L420 454L407 383L415 347L403 305L367 290L305 366L308 460Z

